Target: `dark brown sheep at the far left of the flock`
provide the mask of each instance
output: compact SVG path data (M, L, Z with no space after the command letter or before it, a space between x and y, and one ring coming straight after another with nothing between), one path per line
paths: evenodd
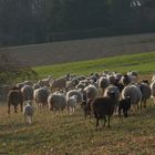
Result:
M14 106L14 112L17 113L17 106L20 104L21 112L22 112L23 95L19 89L12 89L9 91L7 102L8 102L8 114L10 114L11 105Z

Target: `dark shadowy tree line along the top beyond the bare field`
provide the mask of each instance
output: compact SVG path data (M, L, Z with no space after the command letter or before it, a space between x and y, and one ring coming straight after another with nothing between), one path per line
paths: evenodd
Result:
M154 30L154 0L0 0L0 46Z

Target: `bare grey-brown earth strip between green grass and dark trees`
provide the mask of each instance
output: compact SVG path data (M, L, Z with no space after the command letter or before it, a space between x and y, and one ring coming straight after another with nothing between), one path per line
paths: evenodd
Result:
M30 66L92 60L155 50L155 33L62 41L1 49Z

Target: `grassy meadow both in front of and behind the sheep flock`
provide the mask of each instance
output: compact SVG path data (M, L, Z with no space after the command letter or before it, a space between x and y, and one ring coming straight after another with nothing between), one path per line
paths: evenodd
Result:
M140 80L155 71L155 52L113 56L74 63L34 68L40 78L66 73L90 74L104 70L125 73L137 71ZM111 128L95 131L95 120L84 118L81 107L73 115L66 112L34 113L33 124L23 122L23 115L7 114L0 108L0 154L2 155L146 155L155 154L155 105L147 102L147 110L137 110L130 117L114 115Z

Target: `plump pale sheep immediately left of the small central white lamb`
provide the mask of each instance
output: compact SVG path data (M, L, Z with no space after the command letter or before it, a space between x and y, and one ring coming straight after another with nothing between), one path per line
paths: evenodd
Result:
M49 95L48 104L50 111L62 111L66 106L66 99L61 93L53 93Z

